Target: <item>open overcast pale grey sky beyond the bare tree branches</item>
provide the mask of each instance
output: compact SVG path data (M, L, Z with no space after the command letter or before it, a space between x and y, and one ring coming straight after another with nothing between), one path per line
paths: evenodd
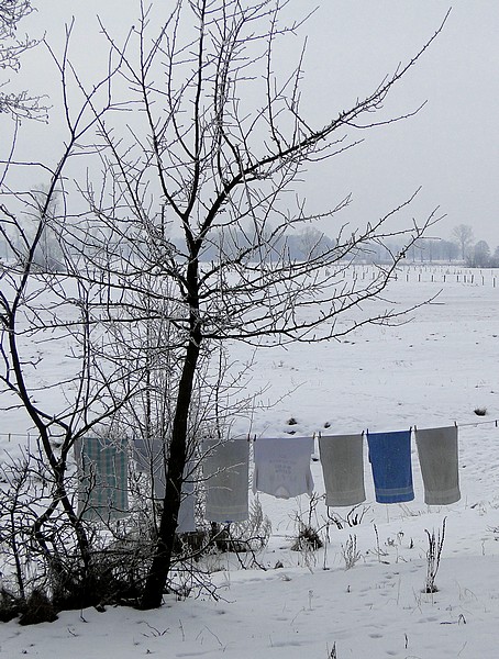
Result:
M169 4L168 0L158 0ZM89 75L102 55L96 14L117 34L136 15L135 0L34 0L38 11L24 22L33 36L44 31L56 47L64 24L76 18L73 59ZM434 33L446 11L443 33L386 102L396 115L428 100L404 122L363 134L365 142L314 171L307 186L313 205L332 205L352 192L345 221L362 224L397 205L422 186L411 215L434 206L447 216L434 230L450 237L457 224L473 226L476 239L499 245L499 2L498 0L293 0L292 11L317 13L308 34L304 91L318 123L366 96ZM288 9L289 11L289 9ZM287 44L298 52L300 40ZM284 52L288 57L293 53ZM100 64L103 64L101 57ZM25 58L23 80L52 97L53 126L29 129L31 146L54 146L57 74L38 48ZM12 86L16 82L12 80ZM34 157L34 156L33 156ZM326 230L334 235L334 230Z

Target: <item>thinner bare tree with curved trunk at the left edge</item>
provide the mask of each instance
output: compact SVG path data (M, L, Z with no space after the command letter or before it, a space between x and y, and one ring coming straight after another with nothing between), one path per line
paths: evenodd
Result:
M14 4L18 7L8 4L12 9ZM22 7L26 10L29 3ZM63 78L68 66L64 58L59 69ZM110 70L106 80L96 86L96 94L109 83L113 72ZM2 143L7 157L2 154L4 171L0 181L0 235L7 245L7 260L0 263L0 394L2 409L24 410L37 434L36 448L10 473L14 492L29 492L24 488L25 473L36 472L43 483L43 495L33 493L36 505L34 500L15 496L11 522L8 520L11 537L15 538L12 547L29 547L31 558L36 556L38 567L52 580L52 590L56 582L63 599L73 590L82 605L98 596L93 592L97 566L91 534L76 507L70 455L78 439L97 432L104 420L114 417L133 394L126 390L132 384L125 383L123 364L100 358L107 350L109 314L99 327L92 314L96 309L109 305L109 298L100 298L103 291L100 282L77 276L78 264L71 253L74 236L66 224L64 172L71 157L81 154L79 141L93 127L96 115L106 113L110 107L108 96L103 94L103 103L97 111L92 98L89 113L90 100L75 118L65 115L67 138L55 165L36 160L18 163L12 158L13 146ZM18 167L29 171L26 179L45 177L43 191L11 188L10 175ZM40 267L40 255L47 256L47 236L57 244L60 276L45 267L46 263ZM54 354L66 356L63 378L45 368ZM125 375L131 366L130 360ZM117 381L120 381L119 400ZM0 517L3 526L3 512ZM30 522L25 523L27 518ZM23 599L27 589L16 571Z

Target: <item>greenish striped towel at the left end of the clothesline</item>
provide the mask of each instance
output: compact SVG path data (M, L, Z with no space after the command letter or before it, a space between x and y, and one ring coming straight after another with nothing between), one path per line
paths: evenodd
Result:
M78 514L85 520L123 517L129 510L126 443L84 437L75 443Z

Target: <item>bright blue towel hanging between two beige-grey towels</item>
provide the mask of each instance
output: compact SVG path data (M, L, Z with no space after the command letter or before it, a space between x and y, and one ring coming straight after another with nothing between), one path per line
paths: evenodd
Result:
M412 501L411 431L368 433L367 444L376 501Z

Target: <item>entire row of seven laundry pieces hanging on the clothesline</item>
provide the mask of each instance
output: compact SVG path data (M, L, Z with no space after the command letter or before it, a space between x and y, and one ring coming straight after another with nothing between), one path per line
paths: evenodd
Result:
M375 496L378 503L414 499L411 438L415 439L424 501L448 505L461 499L457 426L354 435L319 435L325 504L353 506L366 500L364 438L367 440ZM127 450L125 442L88 437L76 445L79 473L79 512L87 518L109 520L127 510ZM201 483L206 492L204 518L243 522L248 517L250 446L253 445L253 492L278 499L311 495L310 468L314 437L268 437L250 443L241 438L201 443ZM166 455L162 440L133 444L135 469L146 473L156 501L165 495ZM187 473L195 469L195 460ZM178 533L196 529L196 478L182 484Z

